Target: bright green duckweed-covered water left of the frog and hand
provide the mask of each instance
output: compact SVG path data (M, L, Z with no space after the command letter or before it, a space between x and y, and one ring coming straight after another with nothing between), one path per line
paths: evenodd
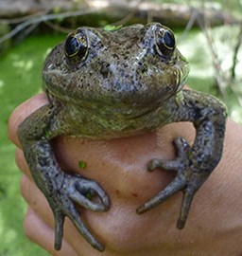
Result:
M14 162L14 145L7 125L12 110L41 88L41 70L46 51L63 36L31 37L12 47L0 62L0 255L48 255L29 243L23 232L26 204L19 192L21 174Z

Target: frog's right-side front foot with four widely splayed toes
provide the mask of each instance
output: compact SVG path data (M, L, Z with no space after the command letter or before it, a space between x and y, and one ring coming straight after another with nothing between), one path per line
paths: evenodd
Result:
M183 229L193 197L202 183L206 180L209 173L206 171L202 172L202 170L199 170L198 167L193 165L191 158L189 157L189 155L192 155L192 148L184 138L177 137L174 139L174 144L178 155L175 160L153 159L149 162L147 170L152 172L156 168L161 167L164 170L176 171L176 177L162 192L159 192L147 201L147 203L139 207L137 213L144 213L163 203L165 199L174 193L182 191L182 207L177 222L177 228Z

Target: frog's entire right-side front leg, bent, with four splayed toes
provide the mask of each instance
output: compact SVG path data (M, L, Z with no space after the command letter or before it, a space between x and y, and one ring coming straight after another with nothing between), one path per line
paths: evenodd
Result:
M175 192L182 191L182 208L177 228L182 229L194 198L203 182L213 172L222 155L226 122L226 108L216 98L195 91L183 90L181 100L170 103L173 113L166 123L191 121L196 128L196 137L192 147L182 137L174 139L177 158L174 160L153 159L148 171L157 167L177 172L174 180L162 192L137 209L144 213L164 202Z

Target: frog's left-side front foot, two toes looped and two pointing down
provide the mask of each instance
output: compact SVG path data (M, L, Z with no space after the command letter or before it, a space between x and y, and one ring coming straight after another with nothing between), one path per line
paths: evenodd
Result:
M57 177L53 187L56 192L52 193L48 201L55 217L55 249L61 249L63 223L65 216L67 216L92 247L103 251L104 246L95 239L83 223L76 204L89 210L109 210L110 200L106 192L93 180L83 178L80 175L63 173ZM89 199L89 195L91 197L96 196L98 202Z

